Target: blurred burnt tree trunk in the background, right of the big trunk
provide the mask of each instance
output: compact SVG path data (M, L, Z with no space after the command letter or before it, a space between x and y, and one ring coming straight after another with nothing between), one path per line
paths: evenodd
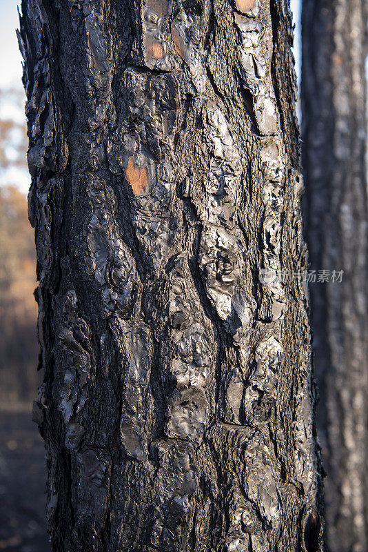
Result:
M303 1L303 166L327 540L368 549L366 0ZM334 279L332 277L332 279Z

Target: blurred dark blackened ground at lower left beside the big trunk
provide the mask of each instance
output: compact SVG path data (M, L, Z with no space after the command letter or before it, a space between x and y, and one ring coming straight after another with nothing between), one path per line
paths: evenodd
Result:
M0 411L0 551L50 551L45 449L30 411Z

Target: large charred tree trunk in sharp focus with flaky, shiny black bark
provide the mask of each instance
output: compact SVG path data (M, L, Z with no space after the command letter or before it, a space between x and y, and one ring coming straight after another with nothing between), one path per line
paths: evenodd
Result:
M22 10L53 550L320 550L288 2Z

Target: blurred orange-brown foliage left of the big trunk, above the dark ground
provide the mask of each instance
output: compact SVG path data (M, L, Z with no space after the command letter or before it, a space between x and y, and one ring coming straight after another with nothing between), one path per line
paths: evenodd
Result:
M34 235L27 200L14 186L0 188L0 402L35 398L39 345Z

